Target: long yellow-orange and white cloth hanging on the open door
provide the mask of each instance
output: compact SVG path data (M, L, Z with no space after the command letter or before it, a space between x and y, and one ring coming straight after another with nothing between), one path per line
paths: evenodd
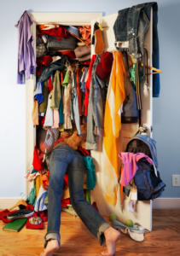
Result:
M125 101L125 67L122 53L115 51L104 116L104 177L106 200L115 207L119 178L119 131Z

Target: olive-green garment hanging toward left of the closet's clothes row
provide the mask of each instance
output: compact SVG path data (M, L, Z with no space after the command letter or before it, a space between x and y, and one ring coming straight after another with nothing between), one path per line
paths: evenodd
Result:
M59 71L56 70L55 72L55 80L53 83L53 93L52 99L50 103L50 108L54 110L59 110L60 108L60 101L61 101L61 84L60 84L60 76Z

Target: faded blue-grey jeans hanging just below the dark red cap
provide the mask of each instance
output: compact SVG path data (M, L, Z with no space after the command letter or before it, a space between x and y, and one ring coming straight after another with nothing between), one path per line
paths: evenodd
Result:
M100 57L96 56L96 61L92 67L90 80L90 96L88 106L88 125L86 149L96 149L96 135L103 137L104 131L104 88L105 82L96 74L96 67L100 62Z

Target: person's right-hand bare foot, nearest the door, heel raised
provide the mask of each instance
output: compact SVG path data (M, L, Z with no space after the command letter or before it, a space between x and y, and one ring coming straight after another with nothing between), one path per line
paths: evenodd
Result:
M113 256L116 252L116 243L120 238L120 233L118 230L114 230L110 227L104 231L104 236L106 238L107 250L102 252L102 255Z

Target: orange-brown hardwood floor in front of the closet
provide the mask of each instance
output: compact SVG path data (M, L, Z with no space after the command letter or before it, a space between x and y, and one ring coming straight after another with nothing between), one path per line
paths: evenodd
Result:
M44 250L47 223L44 230L27 230L24 227L19 233L3 231L3 225L0 221L0 256L38 256ZM104 249L79 218L62 212L61 247L54 255L99 256ZM154 210L153 231L146 233L142 242L122 234L115 253L118 255L180 255L180 210Z

